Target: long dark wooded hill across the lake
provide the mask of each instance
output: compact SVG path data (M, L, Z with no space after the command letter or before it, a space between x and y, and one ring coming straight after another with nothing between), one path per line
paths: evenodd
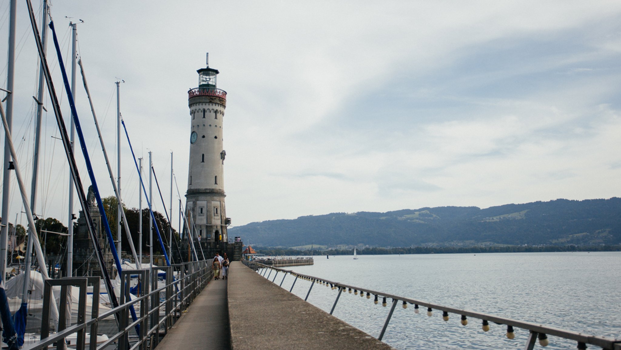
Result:
M332 213L229 229L254 246L371 247L621 243L621 198Z

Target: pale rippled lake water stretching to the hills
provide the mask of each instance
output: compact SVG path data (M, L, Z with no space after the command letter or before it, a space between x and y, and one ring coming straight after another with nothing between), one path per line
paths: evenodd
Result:
M315 256L315 264L285 267L301 274L555 328L621 338L621 252L555 252L498 254L425 254L402 256ZM273 279L273 274L270 280ZM282 280L282 274L276 283ZM288 275L283 288L289 290ZM304 298L311 282L297 280L293 293ZM308 302L330 312L337 290L315 284ZM379 336L388 306L343 292L334 316ZM460 315L442 320L424 308L395 308L384 339L397 349L523 349L528 332L491 323L484 332L481 321ZM549 336L548 349L575 349L576 343ZM539 344L535 348L542 348ZM598 349L589 346L589 349Z

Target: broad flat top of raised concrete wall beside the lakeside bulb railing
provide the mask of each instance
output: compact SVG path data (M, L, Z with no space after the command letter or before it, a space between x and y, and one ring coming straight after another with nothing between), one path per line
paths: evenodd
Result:
M239 261L229 268L229 320L233 350L392 349Z

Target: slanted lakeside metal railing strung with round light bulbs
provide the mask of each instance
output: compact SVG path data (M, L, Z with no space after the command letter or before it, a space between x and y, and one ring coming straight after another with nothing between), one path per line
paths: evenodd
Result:
M489 330L489 323L495 323L496 325L504 325L507 327L507 338L509 339L513 339L514 337L514 328L524 329L525 331L528 331L527 344L525 344L525 347L524 347L525 350L533 350L533 347L535 346L535 342L537 341L537 339L539 339L540 345L546 346L548 344L548 337L547 337L548 335L576 341L576 343L578 343L578 346L577 346L578 349L586 349L587 348L586 344L591 344L594 346L599 346L602 349L621 350L621 339L613 339L613 338L608 338L604 336L594 336L591 334L578 333L574 331L568 331L566 329L559 329L559 328L553 328L550 326L539 325L537 323L514 320L511 318L504 318L502 316L489 315L485 313L478 313L474 311L452 308L450 306L445 306L445 305L438 305L438 304L423 302L423 301L415 300L412 298L401 297L399 295L392 295L390 293L384 293L384 292L379 292L375 290L369 290L366 288L356 287L353 285L348 285L345 283L334 282L334 281L322 279L320 277L315 277L315 276L305 275L305 274L298 274L297 272L294 272L292 270L279 269L278 267L272 267L269 265L260 264L256 261L243 260L243 264L255 270L256 272L258 272L258 274L270 280L271 282L277 283L281 288L283 288L282 287L283 282L287 275L291 275L292 277L295 277L295 280L293 281L293 284L291 285L291 289L289 289L290 293L292 292L294 285L296 285L297 280L306 280L307 282L311 282L308 292L306 293L306 298L304 298L304 300L308 299L309 295L311 294L312 287L317 283L319 283L320 285L331 287L333 290L338 290L337 297L335 298L334 303L332 305L332 310L330 310L330 315L332 315L334 309L336 308L338 299L340 298L341 293L343 291L347 293L351 293L353 290L355 295L358 295L358 293L360 293L361 295L364 295L366 293L366 298L373 297L374 303L378 303L379 300L381 300L381 303L383 306L388 305L388 302L387 302L388 298L392 299L391 310L388 313L388 317L386 318L386 321L384 321L384 326L381 330L381 333L379 333L378 340L382 340L382 338L384 337L384 333L386 332L386 328L388 328L388 324L391 320L392 312L394 311L395 306L397 306L397 303L402 302L402 305L404 306L404 308L407 308L408 304L410 305L414 304L415 311L418 311L419 307L427 308L428 316L431 316L434 310L442 311L442 316L443 316L444 321L448 321L450 313L452 313L453 315L460 315L462 325L468 324L468 318L475 318L475 319L481 320L483 323L484 331ZM279 275L278 274L279 272L283 274L283 278L277 280L276 277ZM273 277L273 278L270 279L270 277Z

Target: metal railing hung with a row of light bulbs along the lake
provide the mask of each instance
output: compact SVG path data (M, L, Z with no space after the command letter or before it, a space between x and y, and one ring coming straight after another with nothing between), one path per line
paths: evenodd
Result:
M489 315L486 313L479 313L476 311L469 311L469 310L461 310L458 308L451 308L449 306L443 306L443 305L438 305L438 304L434 304L434 303L429 303L429 302L424 302L422 300L416 300L416 299L412 299L412 298L406 298L406 297L401 297L399 295L393 295L390 293L384 293L384 292L378 292L376 290L370 290L367 288L361 288L361 287L356 287L354 285L348 285L345 283L340 283L340 282L334 282L331 280L327 280L327 279L322 279L320 277L315 277L312 275L306 275L306 274L299 274L297 272L294 272L292 270L285 270L285 269L281 269L278 267L271 267L270 265L265 265L265 264L260 264L258 262L254 262L254 261L247 261L244 260L244 264L246 265L256 265L258 267L260 267L260 269L271 269L271 270L276 270L277 272L284 272L285 275L286 274L290 274L292 276L296 277L297 279L304 279L304 280L309 280L312 282L311 287L309 288L309 291L306 295L306 298L308 298L309 294L311 293L312 290L312 286L315 283L322 283L325 285L330 285L330 287L332 287L333 289L337 289L338 288L338 295L337 298L332 306L332 311L330 311L330 315L332 315L332 312L334 311L335 306L337 305L338 302L338 298L340 297L340 294L343 292L343 290L354 290L356 292L360 292L360 293L366 293L366 297L369 298L370 295L374 295L375 298L378 297L382 297L382 298L391 298L392 299L392 306L391 306L391 312L388 315L388 318L386 319L386 322L384 323L384 327L382 329L382 332L380 334L380 336L378 337L379 340L382 339L383 335L384 335L384 331L386 331L386 327L388 326L388 323L390 321L390 318L392 316L392 311L394 311L394 308L397 304L397 302L401 301L403 303L410 303L410 304L414 304L415 308L419 308L419 306L424 306L427 307L427 311L428 313L432 312L432 310L439 310L443 312L443 318L445 321L448 321L448 313L453 313L456 315L461 315L461 320L462 320L462 324L465 325L468 323L467 319L468 317L472 317L472 318L478 318L479 320L483 321L483 327L484 327L484 331L486 331L485 327L487 326L487 329L489 330L489 322L494 322L497 325L506 325L507 327L515 327L515 328L520 328L520 329L525 329L529 332L529 336L528 336L528 340L527 340L527 346L525 349L527 350L532 350L533 346L535 344L535 341L537 340L537 338L540 339L540 344L542 344L542 346L545 346L543 344L547 345L547 335L551 335L551 336L557 336L559 338L564 338L564 339L569 339L569 340L573 340L578 342L578 349L586 349L586 344L591 344L594 346L599 346L602 349L607 349L607 350L621 350L621 339L615 339L615 338L609 338L609 337L604 337L604 336L594 336L591 334L584 334L584 333L578 333L578 332L574 332L574 331L569 331L566 329L560 329L560 328L554 328L554 327L550 327L550 326L544 326L544 325L538 325L537 323L531 323L531 322L526 322L526 321L520 321L520 320L514 320L512 318L505 318L505 317L501 317L501 316L495 316L495 315ZM257 272L259 272L259 270L257 270ZM265 274L265 271L263 272ZM268 274L269 276L269 274ZM274 280L276 278L274 277ZM268 278L269 280L269 278ZM283 277L283 281L284 281L284 277ZM283 281L280 282L280 284L282 285ZM296 281L294 281L295 283ZM276 283L276 282L274 282ZM291 286L291 290L293 289L293 286ZM291 292L291 290L289 290L289 292ZM306 300L306 299L304 299ZM428 314L429 315L429 314ZM465 322L464 322L465 321ZM507 333L509 333L509 331L507 331ZM513 332L510 332L513 333ZM545 339L545 340L543 340Z

